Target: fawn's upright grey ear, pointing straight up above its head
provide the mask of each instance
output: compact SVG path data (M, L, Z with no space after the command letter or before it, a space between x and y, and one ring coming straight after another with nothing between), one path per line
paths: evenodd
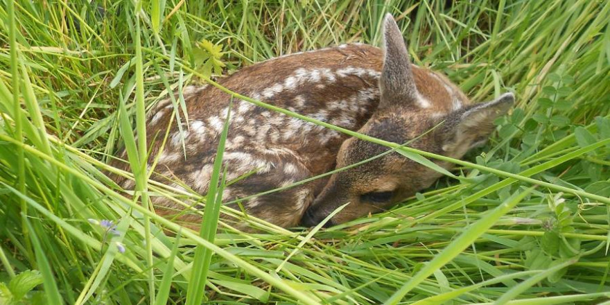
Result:
M417 87L411 71L409 53L403 35L392 15L383 21L383 71L379 80L379 107L417 102Z

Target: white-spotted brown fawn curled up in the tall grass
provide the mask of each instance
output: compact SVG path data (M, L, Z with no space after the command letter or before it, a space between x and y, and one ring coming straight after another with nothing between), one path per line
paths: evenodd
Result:
M503 94L489 103L469 105L468 98L447 78L410 63L402 34L390 14L384 20L383 37L383 51L366 44L344 44L285 55L241 69L220 80L220 85L395 143L424 134L409 145L453 158L461 158L470 148L484 143L494 130L494 119L507 112L514 96ZM175 116L172 103L159 103L151 112L148 162L152 164L158 155L153 179L175 187L181 185L175 180L181 180L194 191L206 193L231 97L216 87L187 87L183 96L189 121L183 121L182 132L170 121ZM247 101L231 105L223 166L227 182L242 179L226 186L223 202L288 186L389 149ZM426 133L439 123L442 125ZM170 128L168 140L159 151L166 128ZM437 164L451 168L446 162ZM316 225L350 202L326 223L332 225L390 207L440 176L390 153L330 177L241 203L249 215L293 227L299 223ZM132 180L118 183L125 189L134 186ZM153 198L153 203L159 214L180 209L160 197ZM187 223L200 220L195 214L181 218Z

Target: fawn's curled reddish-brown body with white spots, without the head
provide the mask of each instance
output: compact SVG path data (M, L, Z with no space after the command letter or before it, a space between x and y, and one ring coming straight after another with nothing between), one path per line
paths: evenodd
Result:
M238 94L342 128L360 130L375 137L403 143L404 140L425 132L431 123L439 122L448 114L462 110L469 103L464 94L444 76L426 69L411 67L409 62L403 64L408 66L408 71L418 88L410 106L414 108L392 111L395 112L394 114L400 114L403 120L401 122L408 121L407 130L387 123L390 116L378 113L380 100L383 100L381 96L384 88L381 86L380 90L379 81L384 71L384 53L374 46L348 44L267 60L220 80L220 85ZM177 128L175 118L171 119L175 116L171 102L159 103L151 112L147 126L148 145L153 147L149 164L152 164L153 159L159 155L153 179L173 186L179 186L180 183L176 180L180 180L194 191L206 193L231 97L220 89L209 86L188 87L184 91L184 99L189 121L185 122L184 116L181 116L182 132ZM382 118L383 122L379 123L385 124L385 128L381 129L385 132L375 132L370 129L370 125L374 125L374 122L371 122L373 117ZM170 120L173 120L171 125L169 125ZM164 150L159 152L168 125L170 126L168 139ZM369 126L369 130L363 130L367 128L366 126ZM247 177L225 188L223 202L238 200L327 173L336 168L338 163L340 166L348 165L343 164L345 160L342 159L345 158L338 159L340 147L347 138L340 132L286 114L272 112L246 101L233 101L223 165L227 169L227 182L243 175ZM432 142L422 139L413 146L442 153L442 145ZM371 157L372 153L383 152L382 146L369 144L374 149L356 148L360 152L356 155L361 155L356 159L365 159ZM458 155L461 157L463 153ZM125 157L124 153L123 157ZM412 164L409 166L413 167ZM430 184L438 177L430 173L427 168L416 169L421 171L421 175L434 176L431 182L427 182L430 179L422 179L422 185L418 185L418 189L426 187L427 185L424 184ZM379 168L376 171L378 170ZM248 175L249 173L251 175ZM330 178L334 184L337 179L335 175ZM368 180L363 183L375 184L374 180L383 180L383 176ZM426 182L423 182L424 180ZM134 186L132 180L123 180L119 183L125 189ZM399 182L392 183L399 184ZM329 179L315 180L241 203L252 216L282 227L291 227L299 223L306 209L321 193L324 193L326 198L329 197L332 189L329 189L327 184ZM397 186L392 187L397 189ZM407 193L403 192L401 196L412 195ZM391 199L399 199L396 196L397 194L394 194ZM345 196L336 197L349 200L349 197ZM320 209L320 205L324 204L318 201L316 200L315 209L308 211L306 224L317 223L324 215L328 215L333 207L337 207L337 204L345 203L336 202ZM153 198L153 203L163 207L159 210L162 214L171 214L172 211L177 214L182 209L177 204L159 197ZM365 210L358 213L348 212L346 214L348 216L337 218L335 222L349 220L357 216L356 214L364 215L374 211L372 208ZM182 219L187 222L197 222L199 218L187 214L182 216Z

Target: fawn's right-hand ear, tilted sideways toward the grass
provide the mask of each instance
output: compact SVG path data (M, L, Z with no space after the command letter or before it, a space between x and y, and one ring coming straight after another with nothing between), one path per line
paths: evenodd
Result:
M514 103L514 94L505 93L494 101L480 103L466 111L453 112L442 128L442 149L449 155L463 155L470 148L481 146L494 131L494 120L503 116Z

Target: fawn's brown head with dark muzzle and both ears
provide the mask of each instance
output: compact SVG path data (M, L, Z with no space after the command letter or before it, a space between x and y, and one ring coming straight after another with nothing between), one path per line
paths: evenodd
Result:
M417 68L411 66L402 34L389 14L385 17L383 38L380 102L371 119L358 132L399 144L409 142L408 146L412 148L455 159L461 158L470 148L485 143L494 130L494 119L505 114L512 105L513 94L503 94L488 103L455 107L458 109L439 113L434 104L451 105L451 101L435 101L435 98L428 101L420 94L426 89L429 92L426 87L432 85L418 81L421 87L418 90L412 71ZM442 82L440 76L435 75L434 79ZM356 164L387 150L389 148L369 141L347 139L337 155L336 168ZM451 168L451 164L446 162L436 163ZM345 223L382 211L430 186L440 176L440 173L398 153L383 155L331 175L322 193L306 211L302 223L320 223L332 211L348 202L347 207L333 216L327 225Z

